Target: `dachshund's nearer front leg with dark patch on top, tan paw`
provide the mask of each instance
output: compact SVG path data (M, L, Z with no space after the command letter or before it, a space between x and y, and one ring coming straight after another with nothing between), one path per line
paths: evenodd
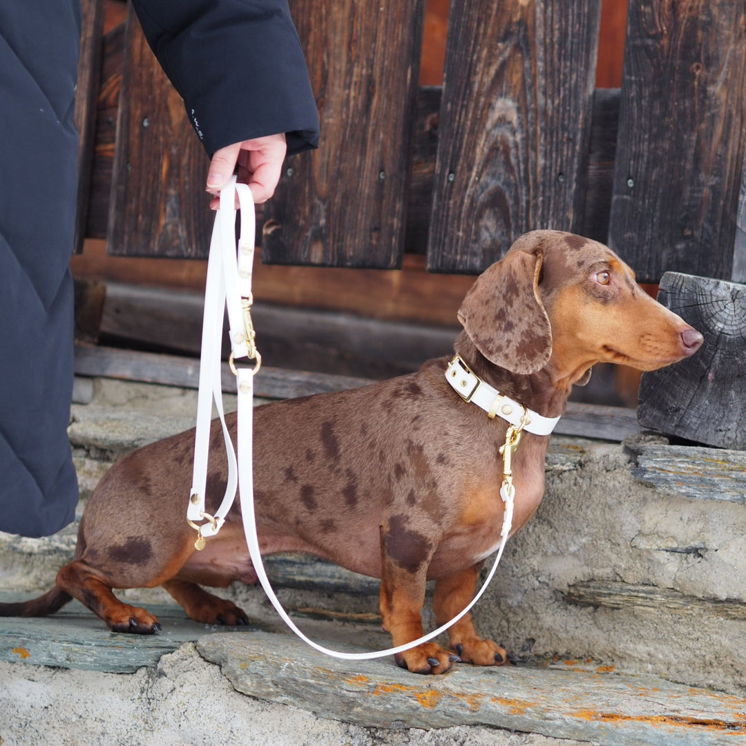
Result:
M395 648L423 635L422 605L433 551L434 545L416 532L381 528L380 613L383 629L391 634ZM425 642L397 653L395 659L402 668L416 674L442 674L457 657L435 642Z

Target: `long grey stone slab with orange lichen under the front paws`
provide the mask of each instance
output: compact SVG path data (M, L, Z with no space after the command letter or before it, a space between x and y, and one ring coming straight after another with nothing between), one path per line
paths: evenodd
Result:
M746 700L656 677L463 664L421 677L392 659L339 661L264 632L207 636L197 649L239 692L364 726L486 725L608 746L746 742Z

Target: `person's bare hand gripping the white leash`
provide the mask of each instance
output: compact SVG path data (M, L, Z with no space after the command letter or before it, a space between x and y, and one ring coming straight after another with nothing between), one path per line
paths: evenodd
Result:
M282 133L236 142L215 151L207 171L207 192L215 197L210 201L210 209L218 209L220 190L236 172L236 164L238 181L248 184L254 202L266 202L280 181L286 150L285 134Z

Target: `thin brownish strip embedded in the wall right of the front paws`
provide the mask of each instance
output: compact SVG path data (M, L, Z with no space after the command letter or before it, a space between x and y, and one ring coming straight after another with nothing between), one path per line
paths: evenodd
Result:
M642 586L619 580L583 580L573 583L563 594L570 604L604 606L607 609L653 609L674 614L706 612L724 619L746 621L746 604L697 598L671 588Z

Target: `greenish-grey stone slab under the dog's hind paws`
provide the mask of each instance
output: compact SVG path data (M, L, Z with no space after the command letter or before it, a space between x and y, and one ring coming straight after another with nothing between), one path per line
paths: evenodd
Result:
M2 594L1 600L13 598ZM163 655L172 653L184 642L236 629L198 624L186 618L179 606L148 604L148 610L162 624L160 634L110 632L101 619L78 601L49 617L0 619L0 660L129 674L142 666L156 665Z

